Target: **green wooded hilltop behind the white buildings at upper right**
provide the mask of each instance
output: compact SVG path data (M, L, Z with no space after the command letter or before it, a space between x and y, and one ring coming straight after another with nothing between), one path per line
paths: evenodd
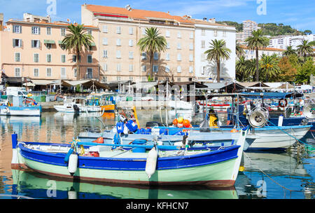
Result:
M237 32L241 32L243 29L243 25L237 22L231 21L217 21L218 24L224 24L230 26L235 26ZM261 27L262 32L264 35L269 36L279 36L279 35L304 35L304 32L297 31L297 29L293 29L290 25L283 25L283 24L275 24L275 23L265 23L265 24L258 24L258 27Z

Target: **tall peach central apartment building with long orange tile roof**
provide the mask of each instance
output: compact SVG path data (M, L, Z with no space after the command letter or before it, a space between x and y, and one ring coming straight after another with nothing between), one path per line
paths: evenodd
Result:
M195 25L187 18L158 11L96 6L81 7L81 23L99 27L101 80L147 81L150 56L137 43L146 28L156 27L167 39L167 49L154 54L153 79L189 81L195 77Z

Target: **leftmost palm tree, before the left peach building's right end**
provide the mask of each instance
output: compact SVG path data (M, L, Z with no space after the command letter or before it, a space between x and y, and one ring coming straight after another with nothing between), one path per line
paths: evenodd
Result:
M69 34L64 36L62 40L62 45L69 52L73 52L76 54L76 79L80 80L80 55L83 51L83 47L85 50L90 50L90 47L93 43L93 36L88 34L84 29L83 25L69 25L68 26Z

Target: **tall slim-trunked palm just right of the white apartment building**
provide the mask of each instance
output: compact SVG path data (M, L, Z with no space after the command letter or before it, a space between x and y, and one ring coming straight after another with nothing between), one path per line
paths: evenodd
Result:
M257 29L251 32L251 36L248 37L245 42L248 48L255 50L256 53L256 81L259 81L259 48L265 48L269 45L269 39L262 35L262 29Z

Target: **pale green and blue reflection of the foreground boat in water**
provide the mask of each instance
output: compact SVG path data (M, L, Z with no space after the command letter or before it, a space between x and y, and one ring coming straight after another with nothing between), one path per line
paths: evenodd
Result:
M51 199L238 199L235 187L92 184L12 170L13 195Z

